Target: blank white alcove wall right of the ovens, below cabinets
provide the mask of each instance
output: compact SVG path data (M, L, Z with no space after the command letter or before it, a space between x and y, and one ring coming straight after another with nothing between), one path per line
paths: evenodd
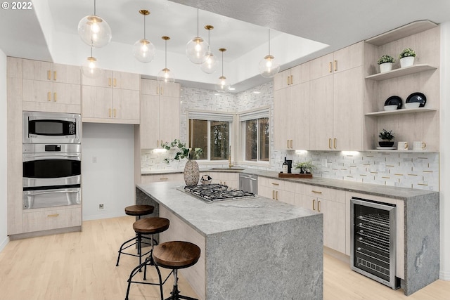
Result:
M124 216L124 207L132 204L134 125L83 123L83 219Z

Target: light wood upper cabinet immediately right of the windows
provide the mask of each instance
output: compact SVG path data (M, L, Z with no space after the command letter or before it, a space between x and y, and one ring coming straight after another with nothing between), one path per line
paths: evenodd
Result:
M276 149L307 150L310 134L309 63L295 67L292 72L297 75L287 78L298 78L297 83L274 91L274 143Z

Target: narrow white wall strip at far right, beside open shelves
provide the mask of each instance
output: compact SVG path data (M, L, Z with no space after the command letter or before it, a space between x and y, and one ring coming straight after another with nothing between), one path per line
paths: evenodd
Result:
M450 22L441 24L441 109L440 109L440 159L439 170L441 188L439 190L440 209L440 275L450 280Z

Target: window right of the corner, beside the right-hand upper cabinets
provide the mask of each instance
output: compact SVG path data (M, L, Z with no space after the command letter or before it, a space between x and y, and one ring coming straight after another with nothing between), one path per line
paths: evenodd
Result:
M243 127L243 159L269 162L269 110L240 115Z

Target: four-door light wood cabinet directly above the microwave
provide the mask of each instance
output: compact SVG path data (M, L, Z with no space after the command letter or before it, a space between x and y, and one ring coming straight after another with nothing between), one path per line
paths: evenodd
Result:
M77 66L23 60L23 110L81 112L81 71Z

